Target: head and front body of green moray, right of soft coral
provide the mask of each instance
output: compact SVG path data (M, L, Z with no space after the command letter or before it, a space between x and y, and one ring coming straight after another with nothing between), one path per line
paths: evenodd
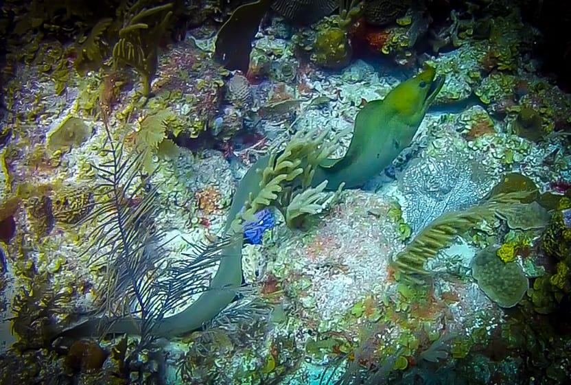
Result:
M318 167L315 182L327 179L327 189L337 189L342 182L346 188L359 187L382 172L410 145L443 82L429 67L396 86L384 100L367 103L355 118L347 154Z

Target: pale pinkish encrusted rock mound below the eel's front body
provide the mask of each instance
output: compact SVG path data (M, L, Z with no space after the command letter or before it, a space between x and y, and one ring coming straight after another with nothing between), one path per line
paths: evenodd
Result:
M303 237L294 237L295 231L275 230L288 242L272 245L270 253L275 257L269 259L266 270L278 279L290 301L301 306L304 318L316 323L316 329L337 328L339 316L369 289L382 292L380 286L388 274L388 261L382 256L399 248L393 242L397 238L393 222L384 215L389 209L385 199L346 191L340 205L325 211L323 220Z

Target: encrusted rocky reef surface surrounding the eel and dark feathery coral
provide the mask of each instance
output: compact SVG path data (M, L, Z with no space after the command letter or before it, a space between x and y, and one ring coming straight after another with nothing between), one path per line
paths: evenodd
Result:
M530 42L541 32L520 17L526 2L476 1L443 19L431 1L345 3L310 26L274 5L245 71L215 60L212 20L231 10L210 1L119 8L121 23L69 9L90 25L75 27L84 32L75 40L60 36L71 28L58 19L64 8L44 16L58 34L36 23L39 8L14 8L0 115L1 384L568 379L571 97L539 74ZM183 14L194 15L188 25ZM132 292L109 290L111 264L100 258L114 246L92 247L110 143L139 154L143 186L126 187L118 204L136 210L152 193L157 209L137 224L165 242L139 261L160 282L158 272L220 240L257 159L296 132L350 132L362 106L421 65L446 81L412 145L294 229L272 212L272 229L242 250L239 298L202 329L169 340L51 340L95 311L141 312L125 301ZM506 209L502 194L524 198ZM157 314L196 300L217 266Z

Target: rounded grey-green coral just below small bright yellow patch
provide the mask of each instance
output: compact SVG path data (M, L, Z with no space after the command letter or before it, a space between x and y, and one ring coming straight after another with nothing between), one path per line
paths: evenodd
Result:
M524 298L529 282L519 264L504 263L497 253L496 246L480 251L472 261L472 276L492 301L501 307L513 307Z

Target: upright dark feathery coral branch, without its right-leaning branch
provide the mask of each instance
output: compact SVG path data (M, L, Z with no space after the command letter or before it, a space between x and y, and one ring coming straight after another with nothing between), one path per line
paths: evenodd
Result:
M153 173L143 176L142 152L127 155L123 145L113 142L108 127L109 161L93 165L101 183L97 185L95 209L83 222L95 222L93 240L84 253L89 264L104 270L100 305L113 317L136 316L150 327L163 310L165 293L154 282L163 267L155 261L163 234L154 229L152 218L159 213L156 187L150 187Z

